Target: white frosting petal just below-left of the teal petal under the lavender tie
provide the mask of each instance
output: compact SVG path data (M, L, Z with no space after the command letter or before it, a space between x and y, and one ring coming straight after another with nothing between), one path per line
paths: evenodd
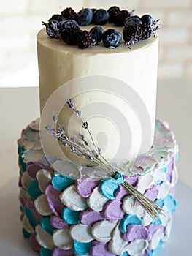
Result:
M87 203L89 208L93 211L102 211L104 205L109 201L107 197L101 194L99 187L95 187L90 197L88 197Z

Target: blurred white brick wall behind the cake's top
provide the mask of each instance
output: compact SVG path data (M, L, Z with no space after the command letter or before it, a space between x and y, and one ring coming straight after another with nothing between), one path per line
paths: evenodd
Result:
M118 5L160 18L158 78L192 78L192 0L0 0L0 86L37 86L36 34L64 7Z

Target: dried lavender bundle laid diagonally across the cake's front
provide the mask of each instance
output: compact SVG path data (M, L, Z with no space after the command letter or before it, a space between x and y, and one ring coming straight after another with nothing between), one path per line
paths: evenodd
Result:
M108 162L107 159L102 156L101 148L96 148L93 136L91 135L91 131L88 129L88 122L82 120L82 118L80 117L80 111L74 107L72 99L69 99L66 103L69 105L69 108L74 111L74 114L78 118L80 118L80 121L82 122L82 128L88 131L94 149L89 146L87 140L85 140L85 136L82 134L80 134L80 139L82 140L82 143L77 143L74 137L69 138L64 133L64 127L61 128L59 126L58 117L55 114L53 115L53 121L55 121L58 129L56 130L50 127L50 125L47 125L45 129L47 129L47 131L50 132L50 134L52 134L54 138L56 138L61 144L63 144L65 147L68 147L69 151L76 154L78 157L85 157L85 159L88 159L91 163L93 163L93 165L101 167L101 169L104 170L107 174L115 178L115 175L119 173L119 170L121 170L121 168L112 166L110 162ZM150 217L156 218L158 217L158 214L164 215L164 210L160 206L158 206L157 203L145 197L145 195L142 195L141 192L135 189L127 181L124 181L121 185L134 197L135 200L140 203L145 211L150 214Z

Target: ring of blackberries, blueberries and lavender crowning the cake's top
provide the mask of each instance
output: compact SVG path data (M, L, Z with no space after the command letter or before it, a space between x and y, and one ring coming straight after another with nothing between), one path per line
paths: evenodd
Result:
M159 29L155 26L157 22L150 15L139 17L134 15L134 10L128 12L119 7L110 7L108 10L82 8L77 13L69 7L42 24L49 37L66 42L71 46L69 49L89 49L99 45L100 51L101 47L127 50L138 42L155 37L155 31ZM139 44L143 45L145 42ZM107 50L101 52L107 53Z

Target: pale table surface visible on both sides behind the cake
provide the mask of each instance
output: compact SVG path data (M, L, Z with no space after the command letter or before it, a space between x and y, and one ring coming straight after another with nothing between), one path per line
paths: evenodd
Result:
M192 188L192 81L158 81L157 118L169 122L180 157L180 180ZM17 139L21 130L39 116L37 87L0 89L0 189L18 177Z

